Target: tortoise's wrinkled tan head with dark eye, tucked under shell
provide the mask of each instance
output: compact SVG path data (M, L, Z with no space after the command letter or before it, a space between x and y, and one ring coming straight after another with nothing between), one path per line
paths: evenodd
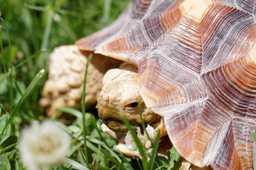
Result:
M123 69L111 69L105 74L103 88L98 96L99 117L111 130L125 133L128 130L122 122L123 116L126 116L133 128L141 127L138 108L141 102L143 122L160 130L160 136L164 136L166 132L162 117L149 111L140 96L139 74L134 67L123 64Z

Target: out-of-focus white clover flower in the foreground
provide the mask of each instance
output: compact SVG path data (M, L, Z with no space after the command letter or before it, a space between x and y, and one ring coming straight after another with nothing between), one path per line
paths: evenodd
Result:
M36 122L21 133L20 157L28 170L39 170L62 161L70 144L70 136L56 122Z

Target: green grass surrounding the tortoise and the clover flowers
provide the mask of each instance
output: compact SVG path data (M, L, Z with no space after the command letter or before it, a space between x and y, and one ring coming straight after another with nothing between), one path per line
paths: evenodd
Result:
M20 161L19 136L24 126L46 119L45 109L39 107L38 101L47 79L47 62L53 48L74 44L79 38L109 25L129 2L0 0L0 169L26 169ZM83 100L84 94L85 91ZM96 111L86 112L85 105L82 111L72 108L59 111L75 117L65 124L58 121L60 115L55 118L72 137L72 144L66 163L49 168L51 170L76 167L85 170L176 170L180 165L180 155L177 156L174 149L169 151L168 159L157 156L158 142L153 143L151 161L147 162L135 131L132 134L144 159L125 156L116 148L118 142L102 132ZM125 121L125 124L132 130L129 122Z

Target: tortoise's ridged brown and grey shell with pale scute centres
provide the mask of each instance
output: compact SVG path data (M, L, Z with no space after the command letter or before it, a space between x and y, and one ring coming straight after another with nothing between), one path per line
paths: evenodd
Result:
M138 66L146 106L186 160L256 167L256 0L134 0L76 45Z

